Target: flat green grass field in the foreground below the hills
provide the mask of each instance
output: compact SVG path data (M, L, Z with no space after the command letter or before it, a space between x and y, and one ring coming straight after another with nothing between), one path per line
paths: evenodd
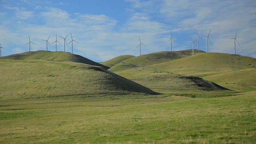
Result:
M256 142L256 95L0 101L0 143Z

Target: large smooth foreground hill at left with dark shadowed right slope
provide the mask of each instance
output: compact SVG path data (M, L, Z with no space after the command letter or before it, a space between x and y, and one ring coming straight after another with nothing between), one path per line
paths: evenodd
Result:
M76 62L0 60L0 98L156 92L102 67Z

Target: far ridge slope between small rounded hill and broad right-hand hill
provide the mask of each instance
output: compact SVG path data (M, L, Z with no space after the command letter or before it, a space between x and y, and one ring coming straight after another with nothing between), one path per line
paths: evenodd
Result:
M195 54L204 53L201 50L195 50ZM118 70L127 70L131 68L139 68L144 66L150 66L153 64L160 64L164 62L170 62L181 58L186 58L192 55L192 50L172 51L172 52L154 52L146 55L136 56L128 60L124 60L115 66L112 66L109 70L112 72Z

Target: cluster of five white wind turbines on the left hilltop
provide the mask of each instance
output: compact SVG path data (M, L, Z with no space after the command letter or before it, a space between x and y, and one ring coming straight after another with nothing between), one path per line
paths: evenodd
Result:
M68 44L72 44L72 54L73 54L73 42L77 42L77 41L75 41L75 40L73 40L73 37L72 37L72 34L70 33L70 35L71 35L71 41L69 42L69 43L67 43L67 41L66 41L66 38L67 38L67 36L68 36L68 34L67 34L67 36L65 37L65 38L63 38L62 36L60 36L60 38L63 38L64 39L64 52L66 52L66 45L68 45ZM43 40L43 41L46 41L46 51L48 51L48 45L50 46L50 43L49 43L49 38L50 38L50 36L48 37L48 39L47 40ZM30 43L32 43L32 44L35 44L34 42L31 42L30 41L30 36L28 36L28 39L29 39L29 42L26 44L26 45L28 45L29 44L29 51L30 51ZM54 41L55 42L55 48L56 48L56 52L57 52L57 42L58 42L58 40L57 40L57 34L56 34L56 40ZM54 42L52 42L52 44L54 43ZM60 42L58 42L59 44L60 44ZM66 43L66 44L65 44ZM79 43L79 42L77 42L77 43ZM26 46L25 45L25 46ZM36 45L36 44L35 44ZM60 44L60 45L62 45L62 44Z

